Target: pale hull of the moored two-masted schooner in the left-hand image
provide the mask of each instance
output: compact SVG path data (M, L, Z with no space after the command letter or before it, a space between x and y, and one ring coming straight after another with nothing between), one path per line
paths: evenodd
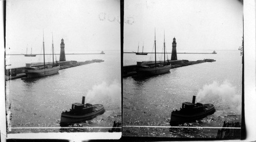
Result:
M42 76L48 76L58 73L59 66L52 67L52 68L44 68L44 69L25 69L23 70L24 73L27 74L27 78L36 78Z

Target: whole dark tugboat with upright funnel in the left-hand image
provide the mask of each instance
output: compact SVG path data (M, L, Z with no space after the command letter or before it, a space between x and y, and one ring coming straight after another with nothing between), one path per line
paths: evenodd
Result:
M84 104L84 96L82 103L73 103L70 111L62 111L60 124L76 123L84 120L90 120L104 113L105 109L102 104Z

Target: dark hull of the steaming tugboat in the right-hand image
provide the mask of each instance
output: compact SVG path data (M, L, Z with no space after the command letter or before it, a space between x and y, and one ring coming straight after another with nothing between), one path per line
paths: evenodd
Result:
M213 104L204 104L204 106L206 107L205 111L195 114L184 114L180 113L179 111L172 112L170 117L170 124L175 125L177 123L200 120L215 112L215 107Z

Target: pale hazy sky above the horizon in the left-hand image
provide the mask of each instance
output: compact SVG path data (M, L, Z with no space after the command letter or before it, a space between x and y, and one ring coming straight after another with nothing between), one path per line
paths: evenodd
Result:
M66 53L120 50L119 0L7 1L6 52L55 53L63 38Z

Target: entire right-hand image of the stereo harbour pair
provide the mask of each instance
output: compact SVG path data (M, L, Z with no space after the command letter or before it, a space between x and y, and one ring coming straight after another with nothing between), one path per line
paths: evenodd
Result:
M123 37L123 136L240 139L241 1L124 1Z

